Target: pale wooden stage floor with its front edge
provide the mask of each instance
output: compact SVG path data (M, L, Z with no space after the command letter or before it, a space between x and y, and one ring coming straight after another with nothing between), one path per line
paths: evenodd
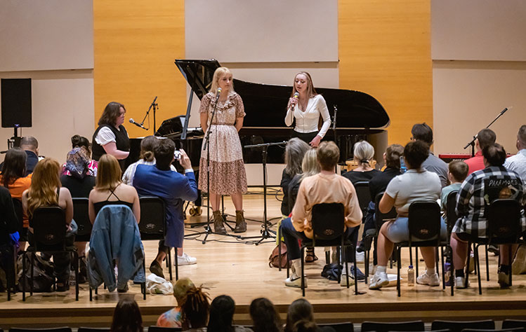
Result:
M279 196L279 195L278 195ZM275 223L280 219L280 202L275 191L267 198L268 218ZM226 212L234 214L230 198L225 198ZM245 216L250 219L248 231L244 236L259 236L263 218L263 195L260 188L254 188L244 196ZM232 216L230 220L234 220ZM206 209L200 217L189 217L188 223L206 221ZM275 226L274 226L275 229ZM286 271L279 272L269 268L268 256L275 247L275 240L268 239L259 245L258 240L241 240L234 237L210 235L206 244L202 244L204 235L193 233L202 227L190 228L188 225L185 251L197 258L196 265L181 266L180 277L190 277L195 284L203 284L211 296L228 294L235 299L237 311L235 321L238 324L249 323L248 307L251 300L267 297L284 314L287 305L301 297L301 289L284 286ZM232 233L232 232L231 232ZM233 233L232 233L233 234ZM150 264L157 253L157 242L144 242L146 263ZM395 287L380 291L370 291L363 282L359 283L360 295L354 289L346 289L336 282L321 277L324 265L322 248L317 248L320 260L308 264L308 289L306 298L315 306L318 321L364 320L411 320L423 319L504 319L526 317L526 276L513 276L511 289L501 290L497 284L497 257L490 254L490 281L482 281L482 295L478 295L476 276L471 275L471 287L456 291L450 296L449 289L442 287L412 286L402 282L402 296L397 298ZM480 250L483 257L482 250ZM404 267L402 277L407 273L409 257L407 250L402 253ZM482 262L481 262L482 263ZM420 263L423 269L423 262ZM363 270L363 264L359 264ZM396 273L396 269L388 271ZM482 265L483 276L485 268ZM175 271L174 271L175 273ZM166 267L164 274L168 276ZM175 274L174 274L175 278ZM10 326L109 326L113 308L119 297L132 296L138 302L143 313L145 326L154 324L162 312L175 305L173 296L147 295L143 300L140 287L131 285L126 294L108 293L99 289L93 302L89 301L87 284L81 284L79 301L74 300L74 290L69 293L35 293L22 302L22 293L16 293L7 302L6 293L0 294L0 327ZM284 316L283 316L284 317Z

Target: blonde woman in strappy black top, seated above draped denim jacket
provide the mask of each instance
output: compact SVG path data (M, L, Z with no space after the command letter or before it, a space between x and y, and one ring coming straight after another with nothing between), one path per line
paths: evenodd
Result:
M89 194L89 220L93 223L100 209L106 205L126 205L137 223L140 221L140 205L137 191L121 181L121 168L110 154L100 157L95 188Z

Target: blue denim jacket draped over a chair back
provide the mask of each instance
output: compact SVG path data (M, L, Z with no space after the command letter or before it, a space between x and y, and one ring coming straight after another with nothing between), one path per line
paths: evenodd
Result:
M119 275L115 284L114 262ZM129 279L144 282L144 249L133 212L126 205L106 205L97 214L88 254L88 282L96 288L105 282L108 291L124 289Z

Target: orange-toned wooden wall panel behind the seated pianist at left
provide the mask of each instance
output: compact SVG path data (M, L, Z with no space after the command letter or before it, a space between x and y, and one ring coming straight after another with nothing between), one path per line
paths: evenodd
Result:
M185 56L183 0L93 0L95 123L108 102L126 106L130 137L153 134L128 123L142 120L158 96L157 127L185 113L186 81L173 60Z

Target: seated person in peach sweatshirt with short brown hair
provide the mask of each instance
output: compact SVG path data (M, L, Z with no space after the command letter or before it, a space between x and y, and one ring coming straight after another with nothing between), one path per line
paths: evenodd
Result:
M298 240L313 238L313 227L310 223L313 206L323 202L341 202L346 214L346 237L356 244L358 227L362 221L362 210L358 204L353 184L334 172L340 158L340 150L333 141L323 141L317 148L317 160L321 171L301 181L298 198L291 218L282 221L282 233L287 244L287 254L291 261L292 273L285 280L285 285L301 287L301 258ZM346 255L352 261L353 253ZM350 265L349 265L350 268ZM348 271L344 271L346 274ZM349 275L352 275L349 273ZM341 278L342 284L347 278ZM305 279L306 286L306 279Z

